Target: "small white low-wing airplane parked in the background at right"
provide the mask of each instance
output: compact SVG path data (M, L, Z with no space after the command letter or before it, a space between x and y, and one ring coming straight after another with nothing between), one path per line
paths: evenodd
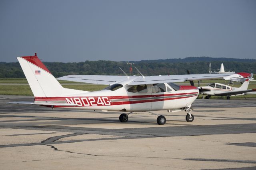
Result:
M256 89L247 89L248 85L250 83L250 80L252 80L253 74L249 73L236 73L236 74L241 74L243 78L246 78L242 86L239 88L228 86L225 84L220 84L220 83L210 83L207 86L201 86L198 87L200 88L200 93L203 94L202 99L204 99L204 95L206 96L206 99L209 99L210 96L226 96L228 100L230 100L230 96L232 95L237 95L237 94L244 94L248 92L253 92L256 91ZM231 77L234 80L234 76L228 76ZM239 78L239 76L237 76ZM226 78L224 78L226 79Z

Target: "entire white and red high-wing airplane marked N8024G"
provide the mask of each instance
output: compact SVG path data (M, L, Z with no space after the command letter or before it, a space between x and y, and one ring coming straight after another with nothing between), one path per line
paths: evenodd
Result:
M104 90L88 92L63 88L51 72L36 56L17 58L34 94L34 102L12 102L14 104L36 104L52 108L83 108L89 110L123 111L120 122L127 122L128 115L135 111L154 110L187 112L186 120L192 122L192 103L200 89L195 86L178 86L174 82L223 78L224 74L190 74L170 76L92 76L70 75L58 78L76 82L109 85ZM158 115L157 123L165 124L166 118Z

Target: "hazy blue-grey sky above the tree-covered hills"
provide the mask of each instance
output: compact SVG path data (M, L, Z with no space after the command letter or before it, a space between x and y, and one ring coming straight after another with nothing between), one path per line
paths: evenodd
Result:
M0 61L256 58L256 0L0 0Z

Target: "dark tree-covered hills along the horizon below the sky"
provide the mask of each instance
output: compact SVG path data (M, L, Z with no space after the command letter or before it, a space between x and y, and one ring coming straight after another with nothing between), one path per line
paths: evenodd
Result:
M133 61L131 61L133 62ZM220 64L224 64L226 71L248 72L248 68L256 70L255 59L237 59L237 58L210 58L210 57L188 57L184 59L166 59L166 60L141 60L134 61L136 68L145 76L152 75L174 75L208 73L209 62L212 65L212 72L218 72ZM88 75L124 75L119 68L122 68L128 75L130 66L127 62L114 61L85 61L85 62L44 62L46 67L55 77L70 74L88 74ZM133 68L131 75L140 75ZM0 62L0 78L24 78L24 73L18 62Z

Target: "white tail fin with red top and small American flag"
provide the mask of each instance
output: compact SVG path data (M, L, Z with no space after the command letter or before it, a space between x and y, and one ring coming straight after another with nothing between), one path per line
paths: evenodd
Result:
M35 97L56 97L80 94L86 91L63 88L36 56L17 57Z

